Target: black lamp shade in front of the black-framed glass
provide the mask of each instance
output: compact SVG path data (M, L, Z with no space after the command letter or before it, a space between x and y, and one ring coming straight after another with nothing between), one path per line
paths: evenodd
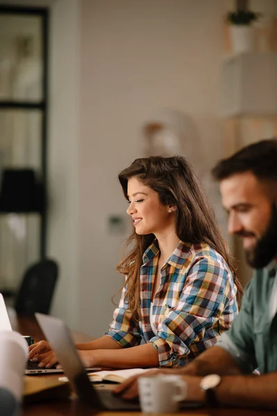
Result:
M4 169L1 180L0 212L44 211L44 187L33 169Z

